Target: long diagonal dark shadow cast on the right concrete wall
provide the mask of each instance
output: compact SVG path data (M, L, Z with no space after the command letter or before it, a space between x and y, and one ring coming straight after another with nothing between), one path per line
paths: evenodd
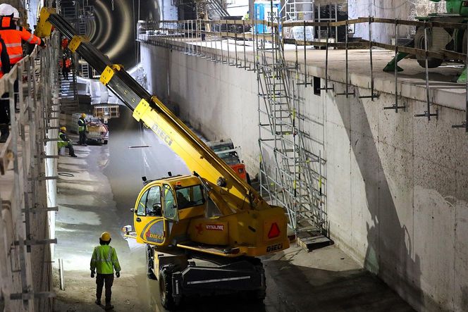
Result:
M359 96L359 90L356 90ZM335 97L334 101L343 125L347 127L350 152L356 159L359 174L365 185L367 205L364 206L366 207L354 206L352 210L359 213L361 208L363 211L367 209L371 216L371 223L366 223L368 245L364 268L376 273L412 306L419 308L423 304L423 294L420 288L420 258L414 254L412 235L398 218L398 211L378 152L378 143L373 139L371 126L374 125L369 123L362 99L346 101L344 98ZM379 102L376 100L370 105L379 106ZM377 109L381 109L379 113L383 113L382 107L379 106ZM352 120L352 118L359 118L359 120ZM357 129L353 129L353 125L357 125ZM352 161L350 171L352 172ZM350 173L350 179L353 184L352 173ZM402 209L413 208L402 207Z

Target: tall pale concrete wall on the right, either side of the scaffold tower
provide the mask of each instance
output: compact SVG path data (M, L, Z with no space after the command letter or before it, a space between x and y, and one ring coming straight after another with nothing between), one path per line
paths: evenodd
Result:
M209 139L233 139L257 173L257 74L141 46L149 92ZM428 123L414 118L421 101L384 111L390 94L345 99L309 87L304 96L304 115L324 122L331 239L417 310L468 311L468 137L451 128L464 111L437 106L438 120Z

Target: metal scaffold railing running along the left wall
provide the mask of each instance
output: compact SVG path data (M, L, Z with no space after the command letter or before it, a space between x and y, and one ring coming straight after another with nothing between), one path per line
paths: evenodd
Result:
M51 311L49 212L58 136L58 34L0 79L11 130L0 144L0 279L5 311ZM19 87L15 87L18 81ZM19 111L18 111L19 110ZM7 260L8 259L8 260ZM1 296L0 296L1 297Z

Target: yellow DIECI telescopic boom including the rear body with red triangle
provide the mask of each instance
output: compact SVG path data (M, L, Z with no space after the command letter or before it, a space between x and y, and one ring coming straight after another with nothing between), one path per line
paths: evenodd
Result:
M287 218L283 208L267 204L156 96L139 85L123 66L111 63L89 41L77 36L74 28L54 9L42 8L37 32L50 35L52 25L70 40L70 44L73 43L70 47L75 53L101 73L101 82L133 111L133 117L154 131L190 170L202 177L208 185L209 197L223 215L218 217L219 226L228 225L230 246L240 246L245 249L242 253L250 256L288 248ZM211 225L205 225L206 230L211 229ZM189 232L195 230L194 224ZM202 238L200 242L204 241Z

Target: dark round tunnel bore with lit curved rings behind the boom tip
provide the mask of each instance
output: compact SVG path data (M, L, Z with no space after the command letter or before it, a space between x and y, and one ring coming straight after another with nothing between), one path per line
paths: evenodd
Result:
M113 6L112 6L113 3ZM135 30L137 20L158 20L154 0L90 0L94 19L87 21L87 36L113 63L132 68L137 63Z

